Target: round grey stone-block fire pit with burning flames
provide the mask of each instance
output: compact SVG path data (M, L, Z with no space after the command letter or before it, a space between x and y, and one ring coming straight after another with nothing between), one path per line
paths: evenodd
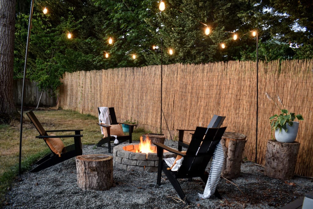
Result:
M113 148L113 166L124 170L156 172L159 158L156 156L156 146L151 145L149 139L146 144L120 144ZM141 151L141 149L149 149L149 151ZM163 158L176 157L176 154L165 150Z

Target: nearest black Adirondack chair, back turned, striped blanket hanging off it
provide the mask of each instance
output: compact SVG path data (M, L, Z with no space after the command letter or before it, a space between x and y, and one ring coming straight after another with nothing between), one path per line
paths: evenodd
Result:
M161 185L162 171L177 191L183 201L187 201L184 192L177 179L200 177L205 183L208 180L208 172L205 171L214 150L221 140L226 127L223 128L204 128L197 127L186 153L182 153L175 149L169 148L164 144L155 143L157 147L157 156L159 157L157 171L157 185ZM178 171L167 170L169 166L163 160L163 151L167 150L172 153L183 156L182 165ZM215 196L221 199L218 191L215 190Z

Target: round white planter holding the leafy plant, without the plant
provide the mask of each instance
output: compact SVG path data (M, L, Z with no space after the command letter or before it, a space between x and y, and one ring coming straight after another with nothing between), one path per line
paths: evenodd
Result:
M281 129L281 132L279 132L279 129L275 130L275 138L279 142L292 143L297 137L299 122L293 122L292 126L287 123L286 127L287 132L284 129Z

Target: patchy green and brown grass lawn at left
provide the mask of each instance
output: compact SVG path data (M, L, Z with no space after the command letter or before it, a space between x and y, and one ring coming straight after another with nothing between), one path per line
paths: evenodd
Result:
M98 118L95 116L69 110L33 112L46 130L83 129L81 132L83 134L83 144L96 144L102 137L100 127L97 125ZM22 169L27 170L29 165L44 154L49 153L50 150L44 140L35 138L39 134L25 113L23 121ZM149 132L136 128L132 134L133 140L139 140L143 133ZM62 132L59 134L62 134ZM0 196L2 202L3 195L14 178L18 176L20 122L0 125L0 138ZM73 138L64 138L62 140L64 146L74 144Z

